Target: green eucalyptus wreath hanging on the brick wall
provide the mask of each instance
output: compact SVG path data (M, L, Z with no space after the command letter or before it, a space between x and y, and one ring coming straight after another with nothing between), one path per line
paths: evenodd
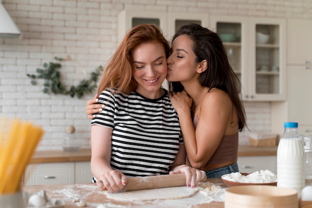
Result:
M97 80L100 73L103 71L103 67L97 67L93 72L90 73L89 79L83 79L80 81L78 86L71 86L70 90L66 90L64 85L61 83L61 74L58 71L62 67L59 63L61 61L71 60L70 57L66 59L54 57L57 62L49 62L43 64L43 69L37 68L36 72L38 75L26 74L27 77L31 78L31 84L36 85L36 79L44 79L43 93L45 94L62 94L70 95L73 97L82 98L85 94L92 93L97 88Z

